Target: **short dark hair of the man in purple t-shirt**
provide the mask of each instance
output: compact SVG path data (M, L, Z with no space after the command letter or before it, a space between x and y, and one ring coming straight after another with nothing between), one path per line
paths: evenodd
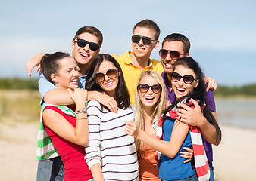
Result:
M167 41L181 41L183 42L183 51L185 54L189 53L190 50L190 41L189 38L186 38L185 35L182 35L180 33L172 33L170 35L167 35L167 37L164 38L164 41L162 42L162 47L164 46L164 43Z

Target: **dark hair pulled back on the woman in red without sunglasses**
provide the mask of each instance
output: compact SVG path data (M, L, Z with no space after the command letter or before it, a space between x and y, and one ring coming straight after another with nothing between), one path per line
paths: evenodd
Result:
M41 71L45 78L52 82L51 74L57 75L58 69L60 68L59 60L65 57L70 57L70 54L64 52L55 52L54 54L45 54L41 59Z

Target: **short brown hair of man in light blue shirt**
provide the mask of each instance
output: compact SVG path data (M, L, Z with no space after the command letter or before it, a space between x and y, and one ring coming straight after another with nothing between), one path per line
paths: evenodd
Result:
M96 29L93 26L83 26L80 29L78 29L73 40L75 40L76 38L78 38L79 35L81 35L85 32L95 35L98 38L98 45L99 45L99 47L101 47L102 42L103 42L103 35L100 30Z

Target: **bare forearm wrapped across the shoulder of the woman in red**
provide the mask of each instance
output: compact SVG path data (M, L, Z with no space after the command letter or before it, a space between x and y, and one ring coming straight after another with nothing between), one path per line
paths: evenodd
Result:
M71 105L74 104L67 90L52 89L43 97L45 103L54 105Z

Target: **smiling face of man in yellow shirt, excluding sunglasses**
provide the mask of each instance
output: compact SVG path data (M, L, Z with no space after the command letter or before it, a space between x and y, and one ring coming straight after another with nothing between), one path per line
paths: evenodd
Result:
M145 27L136 27L133 31L133 35L140 35L140 36L146 36L151 38L152 40L155 39L155 31L153 29L148 29ZM142 39L139 41L139 43L133 43L133 54L136 57L143 58L143 57L150 57L151 51L153 51L154 48L157 48L159 44L159 41L151 41L150 45L143 44Z

